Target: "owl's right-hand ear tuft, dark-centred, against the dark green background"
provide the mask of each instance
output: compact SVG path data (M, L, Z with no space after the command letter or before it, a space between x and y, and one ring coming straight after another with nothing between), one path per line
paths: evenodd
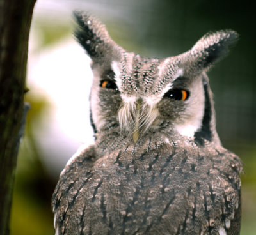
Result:
M227 55L228 49L238 40L236 31L227 29L214 33L207 33L191 50L189 50L192 61L197 68L207 70L214 63Z

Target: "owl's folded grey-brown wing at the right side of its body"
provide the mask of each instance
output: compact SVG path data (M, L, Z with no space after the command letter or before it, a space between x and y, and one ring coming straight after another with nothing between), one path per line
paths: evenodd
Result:
M195 203L195 213L196 208L200 208L198 213L204 214L202 218L205 221L207 234L239 234L241 225L239 174L243 172L241 160L226 149L210 160L211 167L196 183L198 201Z

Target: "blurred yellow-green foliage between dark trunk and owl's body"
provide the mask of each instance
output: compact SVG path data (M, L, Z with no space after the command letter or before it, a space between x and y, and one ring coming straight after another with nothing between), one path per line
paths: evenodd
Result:
M45 98L26 95L31 109L20 144L13 192L11 235L54 234L51 195L55 181L45 172L33 128L40 125L47 106Z

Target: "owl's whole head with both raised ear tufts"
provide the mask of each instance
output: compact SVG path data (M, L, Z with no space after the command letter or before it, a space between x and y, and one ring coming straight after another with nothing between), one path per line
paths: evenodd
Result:
M188 52L155 59L122 49L95 17L74 15L75 36L92 59L95 133L114 130L133 142L156 132L219 141L205 72L236 42L236 32L209 33Z

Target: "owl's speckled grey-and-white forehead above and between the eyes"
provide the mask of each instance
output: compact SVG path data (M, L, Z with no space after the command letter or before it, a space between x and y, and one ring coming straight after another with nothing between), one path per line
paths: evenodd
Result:
M127 95L152 95L161 93L180 72L172 57L156 59L128 54L122 61L112 63L116 84Z

